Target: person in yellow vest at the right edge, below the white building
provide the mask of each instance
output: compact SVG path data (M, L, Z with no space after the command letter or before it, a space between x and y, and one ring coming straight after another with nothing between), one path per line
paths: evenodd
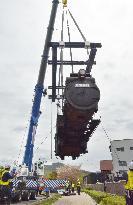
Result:
M129 164L129 171L127 172L126 189L126 205L133 205L133 161Z

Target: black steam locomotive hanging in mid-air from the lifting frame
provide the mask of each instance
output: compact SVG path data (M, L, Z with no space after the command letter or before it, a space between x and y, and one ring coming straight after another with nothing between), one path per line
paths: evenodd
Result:
M93 119L98 110L100 90L84 69L66 78L63 115L57 115L55 153L64 159L87 153L87 142L100 123Z

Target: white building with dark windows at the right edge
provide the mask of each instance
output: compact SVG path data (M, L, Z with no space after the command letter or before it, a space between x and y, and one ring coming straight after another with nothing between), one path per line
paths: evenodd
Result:
M115 175L127 172L128 164L133 160L133 139L111 141L110 151Z

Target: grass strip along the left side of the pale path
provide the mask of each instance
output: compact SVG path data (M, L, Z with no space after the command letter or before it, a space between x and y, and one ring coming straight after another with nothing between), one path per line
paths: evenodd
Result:
M59 198L61 198L60 194L53 194L50 198L37 202L34 205L50 205L56 202Z

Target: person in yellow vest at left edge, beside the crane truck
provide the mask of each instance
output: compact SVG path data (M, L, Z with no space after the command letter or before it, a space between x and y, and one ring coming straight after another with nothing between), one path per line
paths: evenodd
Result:
M11 201L11 187L10 187L10 180L13 179L13 175L10 174L10 165L5 165L4 170L1 174L1 191L7 197L8 202Z

